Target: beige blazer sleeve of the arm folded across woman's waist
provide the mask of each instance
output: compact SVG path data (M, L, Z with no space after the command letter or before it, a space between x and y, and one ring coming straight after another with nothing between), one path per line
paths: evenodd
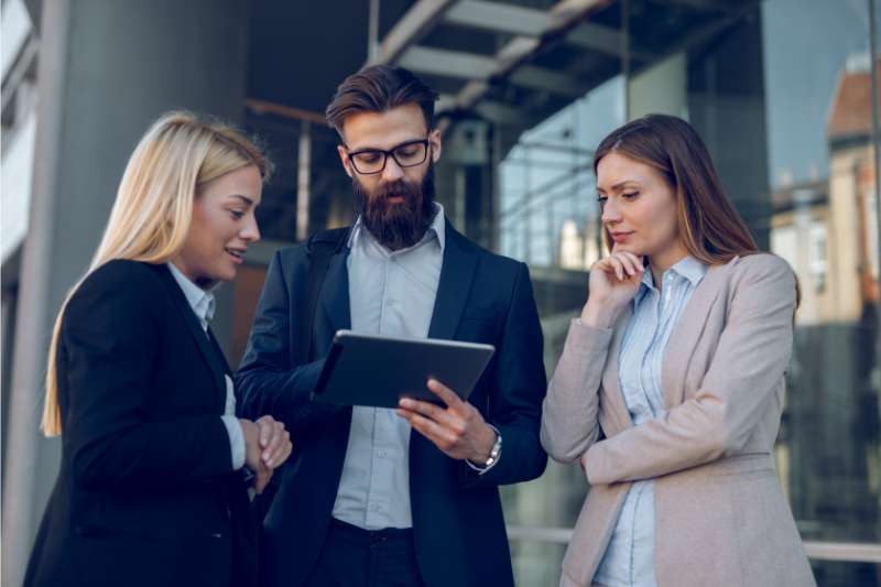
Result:
M646 479L743 448L784 377L792 354L795 276L785 261L748 257L726 327L696 395L661 417L591 446L591 485Z

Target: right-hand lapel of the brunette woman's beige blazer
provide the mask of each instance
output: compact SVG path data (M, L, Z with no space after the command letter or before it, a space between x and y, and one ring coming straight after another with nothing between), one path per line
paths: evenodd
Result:
M679 319L673 327L664 360L661 367L661 385L664 392L664 407L670 410L683 402L685 376L695 352L700 334L707 324L707 316L719 296L728 268L737 261L732 259L725 265L714 265L697 285L692 298L683 308Z

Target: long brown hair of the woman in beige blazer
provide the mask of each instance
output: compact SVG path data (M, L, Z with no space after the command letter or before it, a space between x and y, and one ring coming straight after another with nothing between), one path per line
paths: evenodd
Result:
M606 137L594 154L600 160L619 153L651 165L676 195L676 224L688 254L708 265L759 252L752 235L725 194L704 141L688 122L666 115L648 115ZM606 246L612 238L606 230Z

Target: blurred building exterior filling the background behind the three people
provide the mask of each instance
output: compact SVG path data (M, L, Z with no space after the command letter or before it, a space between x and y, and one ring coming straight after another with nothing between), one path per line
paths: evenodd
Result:
M231 365L271 253L354 218L322 112L368 63L440 94L438 199L530 264L553 371L602 252L592 149L689 120L803 304L776 458L820 586L881 585L878 0L2 0L2 586L57 472L37 424L51 325L161 112L239 122L278 164L213 328ZM503 488L518 585L556 585L577 466Z

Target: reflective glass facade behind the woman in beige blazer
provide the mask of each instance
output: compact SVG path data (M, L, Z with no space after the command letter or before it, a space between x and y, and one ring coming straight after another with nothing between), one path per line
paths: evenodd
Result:
M706 22L659 4L616 3L600 14L628 33L633 55L649 56L628 63L624 52L617 72L497 153L493 241L531 268L552 373L585 302L586 269L602 254L592 149L644 113L688 119L760 246L801 283L775 458L817 580L881 584L869 4L765 0ZM556 583L587 491L578 466L555 463L541 479L504 488L518 585ZM834 559L837 547L863 554Z

